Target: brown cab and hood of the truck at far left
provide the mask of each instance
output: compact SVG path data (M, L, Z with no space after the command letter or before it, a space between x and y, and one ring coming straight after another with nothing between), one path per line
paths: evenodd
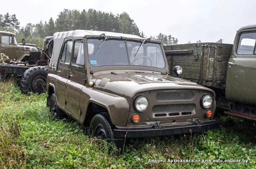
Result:
M10 60L23 61L31 51L38 51L36 47L18 45L14 33L0 31L0 53L4 53Z

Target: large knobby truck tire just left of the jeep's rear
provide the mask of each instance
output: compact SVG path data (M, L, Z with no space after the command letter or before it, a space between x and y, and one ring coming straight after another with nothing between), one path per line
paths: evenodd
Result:
M22 93L45 93L48 68L39 66L25 71L19 84Z

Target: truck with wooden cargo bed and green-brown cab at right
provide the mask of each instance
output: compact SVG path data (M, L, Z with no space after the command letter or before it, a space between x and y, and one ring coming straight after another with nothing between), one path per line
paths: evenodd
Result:
M256 25L240 28L234 44L195 43L164 46L179 77L211 88L218 111L256 120Z

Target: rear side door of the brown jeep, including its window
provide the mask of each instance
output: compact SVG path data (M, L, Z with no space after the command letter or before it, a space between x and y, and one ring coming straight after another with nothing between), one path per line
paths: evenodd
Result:
M69 66L72 54L72 40L66 40L62 46L61 58L59 59L57 67L57 86L56 95L59 107L65 109L66 106L66 94L67 94L67 82L69 81ZM69 113L69 112L67 112Z

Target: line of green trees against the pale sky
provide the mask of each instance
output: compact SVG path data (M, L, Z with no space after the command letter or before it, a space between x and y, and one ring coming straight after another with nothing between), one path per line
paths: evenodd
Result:
M22 38L25 38L26 43L41 47L44 37L52 36L55 32L75 29L128 33L146 38L143 31L140 32L134 20L125 12L114 15L111 12L101 12L94 9L82 11L64 9L55 21L51 17L48 22L28 23L25 27L20 27L15 14L0 14L0 30L16 33L18 43L21 43ZM164 45L178 43L177 38L162 33L156 37L150 36L150 38L160 40Z

